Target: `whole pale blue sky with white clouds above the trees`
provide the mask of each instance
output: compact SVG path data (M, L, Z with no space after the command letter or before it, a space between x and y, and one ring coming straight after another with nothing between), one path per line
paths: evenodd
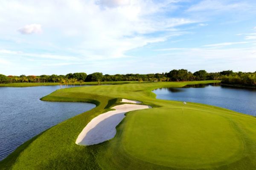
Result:
M0 0L0 74L256 71L256 0Z

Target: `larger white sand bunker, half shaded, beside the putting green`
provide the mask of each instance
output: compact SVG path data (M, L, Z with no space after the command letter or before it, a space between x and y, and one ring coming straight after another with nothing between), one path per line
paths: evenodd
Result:
M76 139L78 145L92 145L108 141L116 135L116 126L125 117L125 113L132 110L148 109L147 105L122 104L112 107L111 110L93 118L84 127Z

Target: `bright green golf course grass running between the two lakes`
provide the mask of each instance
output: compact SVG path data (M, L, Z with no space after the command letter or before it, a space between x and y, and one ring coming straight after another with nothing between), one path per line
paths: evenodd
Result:
M58 89L41 100L89 102L96 107L26 141L0 161L0 169L255 170L255 117L206 104L156 99L152 92L218 82L120 82ZM146 106L125 112L113 138L76 144L87 124L122 105Z

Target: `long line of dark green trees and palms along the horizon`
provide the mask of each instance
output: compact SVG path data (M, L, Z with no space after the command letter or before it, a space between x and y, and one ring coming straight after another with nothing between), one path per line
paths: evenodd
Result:
M246 86L256 86L256 72L233 72L226 70L222 72L206 72L199 70L189 72L186 69L173 69L166 73L156 74L116 74L103 75L101 72L95 72L87 75L84 72L69 73L67 75L2 75L0 74L0 83L55 83L75 84L76 82L90 81L202 81L202 80L221 80L224 84L241 84Z

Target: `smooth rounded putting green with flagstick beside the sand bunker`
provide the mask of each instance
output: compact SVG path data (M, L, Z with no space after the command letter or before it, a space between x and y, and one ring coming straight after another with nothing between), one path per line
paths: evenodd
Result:
M236 161L243 140L227 118L193 109L129 113L121 135L127 153L154 164L202 168Z

